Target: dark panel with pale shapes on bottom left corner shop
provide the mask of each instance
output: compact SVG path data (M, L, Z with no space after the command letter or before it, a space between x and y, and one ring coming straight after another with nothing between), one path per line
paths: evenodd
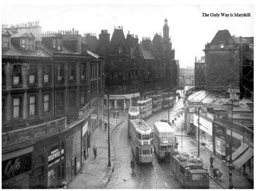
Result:
M31 170L31 153L2 162L2 181Z

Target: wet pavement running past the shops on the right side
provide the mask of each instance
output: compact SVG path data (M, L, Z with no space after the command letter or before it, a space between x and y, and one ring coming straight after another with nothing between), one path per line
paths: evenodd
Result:
M184 115L180 115L179 118L174 122L176 129L176 134L181 135L181 125L184 126ZM183 131L183 135L187 135L185 131ZM190 153L194 156L198 155L198 141L193 139L192 137L183 137L183 148L181 148L181 137L178 136L177 140L179 141L178 148L183 150L183 152ZM220 179L215 180L215 182L218 183L219 186L221 186L224 189L228 188L228 182L229 182L229 169L227 164L222 161L218 156L214 156L213 152L211 152L208 148L205 146L200 145L200 157L203 159L205 167L207 167L208 172L210 174L210 178L213 179L213 171L210 170L210 156L213 155L214 161L213 161L213 167L219 168L220 172L223 173ZM252 176L252 178L251 178ZM245 175L243 175L241 172L239 172L237 169L232 170L232 183L235 189L250 189L253 188L253 167L252 172L250 175L247 175L247 178Z

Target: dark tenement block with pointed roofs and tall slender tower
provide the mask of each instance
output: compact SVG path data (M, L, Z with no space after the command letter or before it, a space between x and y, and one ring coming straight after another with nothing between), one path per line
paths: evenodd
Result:
M139 98L176 92L177 65L167 19L163 33L163 37L156 33L152 41L143 37L140 43L138 36L130 32L125 38L123 26L114 27L111 40L107 30L101 31L98 41L95 36L86 35L88 50L105 56L105 104L107 95L111 108L125 109Z

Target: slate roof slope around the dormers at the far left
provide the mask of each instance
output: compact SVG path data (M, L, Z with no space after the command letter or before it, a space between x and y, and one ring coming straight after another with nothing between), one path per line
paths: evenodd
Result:
M37 46L34 51L28 51L21 47L14 46L13 44L10 44L10 49L2 49L2 56L51 57Z

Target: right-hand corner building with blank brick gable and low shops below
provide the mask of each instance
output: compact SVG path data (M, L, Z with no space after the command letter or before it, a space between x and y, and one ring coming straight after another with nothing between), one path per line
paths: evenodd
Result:
M232 152L233 168L251 173L253 37L219 30L203 51L194 63L195 88L184 101L185 131L223 161Z

